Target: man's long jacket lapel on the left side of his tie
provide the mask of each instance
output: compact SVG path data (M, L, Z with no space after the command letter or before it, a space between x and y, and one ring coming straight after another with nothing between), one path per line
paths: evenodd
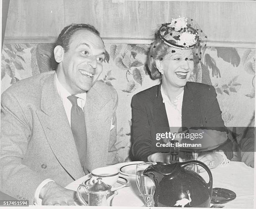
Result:
M44 83L42 111L37 111L37 115L56 159L73 179L79 179L83 174L82 167L64 106L56 90L55 75Z

